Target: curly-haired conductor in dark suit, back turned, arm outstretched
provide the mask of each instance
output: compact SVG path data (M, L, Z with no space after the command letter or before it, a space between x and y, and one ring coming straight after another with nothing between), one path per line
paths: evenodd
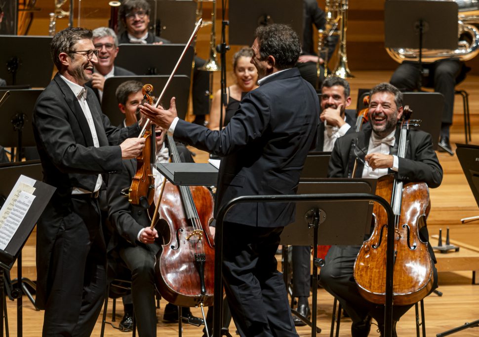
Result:
M252 48L260 86L221 131L178 119L174 98L169 110L140 106L176 139L223 157L215 214L241 195L294 194L315 146L319 101L292 68L300 52L296 33L285 25L260 27ZM223 278L240 336L297 336L275 258L279 235L293 221L294 203L245 203L226 214Z

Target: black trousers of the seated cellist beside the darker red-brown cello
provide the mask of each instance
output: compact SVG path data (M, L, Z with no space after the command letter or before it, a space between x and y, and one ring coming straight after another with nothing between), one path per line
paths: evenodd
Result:
M155 257L160 251L156 243L120 248L120 257L131 270L131 299L141 337L157 336L155 303Z

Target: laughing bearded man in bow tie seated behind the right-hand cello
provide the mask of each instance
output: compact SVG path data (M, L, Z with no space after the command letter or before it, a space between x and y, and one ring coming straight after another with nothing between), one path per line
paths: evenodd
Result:
M398 153L398 121L403 112L402 93L393 85L381 83L370 93L368 118L372 130L352 133L339 138L334 145L329 162L330 178L379 178L394 173L396 178L406 182L424 182L428 187L439 187L442 181L442 168L433 150L431 135L415 129L407 133L406 155ZM354 143L354 144L353 144ZM356 149L359 150L356 150ZM356 150L356 151L355 151ZM359 152L359 153L358 153ZM356 170L353 169L358 160ZM419 230L420 238L427 242L427 227ZM353 337L369 335L371 318L378 322L381 336L384 335L384 305L365 300L358 291L353 277L353 268L359 246L332 246L328 251L326 265L321 268L320 282L336 297L353 320ZM435 261L430 245L428 251ZM434 285L437 288L437 270L433 264ZM395 305L393 308L393 336L396 335L396 322L412 306Z

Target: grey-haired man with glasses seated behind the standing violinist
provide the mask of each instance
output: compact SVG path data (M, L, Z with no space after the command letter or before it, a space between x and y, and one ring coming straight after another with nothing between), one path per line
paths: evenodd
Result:
M114 65L118 55L118 38L115 31L108 27L99 27L93 30L93 45L98 50L98 63L95 66L93 79L86 83L93 89L101 103L105 80L113 76L134 76L136 74Z

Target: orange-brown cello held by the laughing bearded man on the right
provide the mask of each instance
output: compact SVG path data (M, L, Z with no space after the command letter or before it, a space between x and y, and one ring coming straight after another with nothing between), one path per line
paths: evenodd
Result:
M406 106L399 137L399 157L406 154L410 113ZM395 305L416 303L429 294L434 283L428 243L419 237L431 208L428 186L426 183L403 184L394 175L386 175L378 179L376 194L390 200L395 214L393 302ZM374 230L359 250L353 275L362 297L384 304L388 217L378 203L374 203L373 215Z

